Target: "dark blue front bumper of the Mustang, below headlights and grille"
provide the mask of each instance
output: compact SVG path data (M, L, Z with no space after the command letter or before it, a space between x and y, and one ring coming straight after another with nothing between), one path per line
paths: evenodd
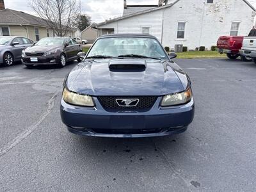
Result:
M147 112L111 113L93 98L96 108L72 106L61 99L61 119L75 134L101 137L165 136L186 131L194 117L194 100L182 106L159 107L161 97Z

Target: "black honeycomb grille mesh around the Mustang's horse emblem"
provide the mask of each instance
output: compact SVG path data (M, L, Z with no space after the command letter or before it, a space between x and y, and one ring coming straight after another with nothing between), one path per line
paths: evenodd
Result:
M118 97L118 96L100 96L98 97L100 104L106 111L129 111L129 110L143 110L148 111L155 104L157 97L156 96L129 96L129 97ZM139 102L136 106L132 107L123 107L119 106L116 102L116 99L139 99Z

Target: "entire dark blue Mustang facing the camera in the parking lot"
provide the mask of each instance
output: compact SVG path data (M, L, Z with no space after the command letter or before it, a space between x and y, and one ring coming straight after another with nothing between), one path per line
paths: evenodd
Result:
M85 136L149 137L186 131L194 116L188 75L151 35L106 35L79 53L65 79L61 119Z

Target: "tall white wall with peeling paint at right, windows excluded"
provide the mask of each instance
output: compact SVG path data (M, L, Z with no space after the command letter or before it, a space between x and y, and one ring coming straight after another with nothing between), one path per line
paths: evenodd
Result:
M163 45L174 48L183 44L189 49L210 49L221 35L230 35L232 21L240 21L238 35L248 35L255 13L243 0L180 0L164 10ZM186 21L185 39L177 40L177 22Z

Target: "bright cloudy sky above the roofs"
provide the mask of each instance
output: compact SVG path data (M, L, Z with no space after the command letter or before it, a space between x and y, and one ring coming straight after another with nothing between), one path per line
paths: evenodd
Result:
M31 0L4 0L6 8L36 15L28 4ZM256 0L248 0L256 7ZM157 4L158 0L127 0L127 4ZM81 0L82 12L90 15L93 22L122 16L124 0Z

